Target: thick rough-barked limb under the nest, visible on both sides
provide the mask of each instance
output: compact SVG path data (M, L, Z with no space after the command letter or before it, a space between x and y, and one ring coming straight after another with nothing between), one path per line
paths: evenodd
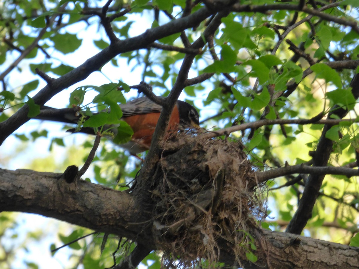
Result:
M145 225L148 213L132 194L83 180L69 184L60 176L0 169L1 211L37 213L155 248L152 224ZM359 268L359 248L257 228L250 232L256 238L258 262L247 262L243 253L246 268ZM226 244L221 247L220 260L236 264Z

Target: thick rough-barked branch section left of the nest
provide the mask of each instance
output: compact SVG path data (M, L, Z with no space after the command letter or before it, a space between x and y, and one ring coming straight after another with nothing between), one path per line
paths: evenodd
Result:
M0 211L41 214L135 241L140 236L151 245L147 218L131 194L83 180L69 184L61 175L0 169Z

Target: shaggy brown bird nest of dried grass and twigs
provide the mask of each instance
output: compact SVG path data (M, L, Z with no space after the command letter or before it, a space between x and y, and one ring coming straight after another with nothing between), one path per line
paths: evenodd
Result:
M240 263L247 231L265 212L253 165L239 142L183 139L155 175L153 230L163 263L188 268L205 259L215 266L223 246Z

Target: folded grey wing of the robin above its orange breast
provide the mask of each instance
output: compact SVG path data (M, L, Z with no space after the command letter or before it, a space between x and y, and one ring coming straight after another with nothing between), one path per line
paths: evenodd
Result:
M159 104L152 102L147 97L136 98L126 104L120 104L119 106L122 110L122 117L161 112L162 110L162 107Z

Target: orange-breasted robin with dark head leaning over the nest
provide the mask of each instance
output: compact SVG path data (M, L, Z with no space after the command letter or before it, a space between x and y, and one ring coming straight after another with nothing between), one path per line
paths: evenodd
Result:
M127 122L134 132L131 141L120 146L128 150L132 155L148 150L162 107L147 97L137 98L125 104L119 104L119 106L122 110L121 119ZM78 123L80 117L81 115L76 108L55 109L43 106L40 114L35 118L64 123ZM116 135L117 127L118 125L113 124L104 126L103 129L110 129ZM168 131L177 132L181 128L199 127L197 110L192 105L178 100L169 119ZM68 131L75 132L75 129ZM81 128L79 132L94 135L93 128L90 127Z

